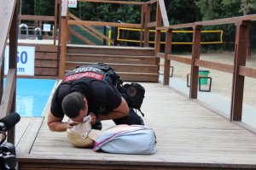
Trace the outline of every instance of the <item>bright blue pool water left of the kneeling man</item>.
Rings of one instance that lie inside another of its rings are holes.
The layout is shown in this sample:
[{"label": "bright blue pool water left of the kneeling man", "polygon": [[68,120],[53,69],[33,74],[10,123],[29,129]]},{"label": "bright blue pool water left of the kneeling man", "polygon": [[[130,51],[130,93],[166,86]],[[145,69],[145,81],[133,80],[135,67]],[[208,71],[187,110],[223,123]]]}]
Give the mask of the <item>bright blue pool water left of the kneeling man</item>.
[{"label": "bright blue pool water left of the kneeling man", "polygon": [[18,78],[16,112],[20,116],[41,116],[55,82],[52,79]]}]

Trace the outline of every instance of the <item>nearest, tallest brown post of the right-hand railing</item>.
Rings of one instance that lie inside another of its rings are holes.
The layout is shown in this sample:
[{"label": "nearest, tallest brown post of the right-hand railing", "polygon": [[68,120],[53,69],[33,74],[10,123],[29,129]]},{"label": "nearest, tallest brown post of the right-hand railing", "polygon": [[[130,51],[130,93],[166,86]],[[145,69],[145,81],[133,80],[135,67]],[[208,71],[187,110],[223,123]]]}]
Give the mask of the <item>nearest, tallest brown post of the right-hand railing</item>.
[{"label": "nearest, tallest brown post of the right-hand railing", "polygon": [[246,65],[249,24],[249,21],[236,23],[236,47],[230,121],[241,121],[244,77],[239,75],[239,67]]}]

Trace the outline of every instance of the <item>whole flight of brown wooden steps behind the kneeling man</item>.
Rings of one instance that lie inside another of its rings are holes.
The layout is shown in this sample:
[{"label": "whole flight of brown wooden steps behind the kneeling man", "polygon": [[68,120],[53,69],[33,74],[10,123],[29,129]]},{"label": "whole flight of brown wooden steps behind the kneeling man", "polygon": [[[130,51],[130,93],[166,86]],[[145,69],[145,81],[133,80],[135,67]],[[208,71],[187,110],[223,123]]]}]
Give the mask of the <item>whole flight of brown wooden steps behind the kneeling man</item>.
[{"label": "whole flight of brown wooden steps behind the kneeling man", "polygon": [[65,71],[81,65],[106,63],[124,81],[158,82],[158,64],[154,48],[67,45]]}]

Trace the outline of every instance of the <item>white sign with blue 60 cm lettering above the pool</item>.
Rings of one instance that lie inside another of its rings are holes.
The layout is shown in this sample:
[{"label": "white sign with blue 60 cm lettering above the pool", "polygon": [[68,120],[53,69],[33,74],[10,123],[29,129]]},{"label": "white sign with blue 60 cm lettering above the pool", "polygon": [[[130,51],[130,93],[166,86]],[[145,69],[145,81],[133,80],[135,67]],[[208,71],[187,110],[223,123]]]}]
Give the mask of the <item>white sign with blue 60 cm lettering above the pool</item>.
[{"label": "white sign with blue 60 cm lettering above the pool", "polygon": [[[9,68],[9,46],[5,48],[4,74],[7,75]],[[18,46],[17,51],[17,75],[34,76],[35,70],[35,47]]]}]

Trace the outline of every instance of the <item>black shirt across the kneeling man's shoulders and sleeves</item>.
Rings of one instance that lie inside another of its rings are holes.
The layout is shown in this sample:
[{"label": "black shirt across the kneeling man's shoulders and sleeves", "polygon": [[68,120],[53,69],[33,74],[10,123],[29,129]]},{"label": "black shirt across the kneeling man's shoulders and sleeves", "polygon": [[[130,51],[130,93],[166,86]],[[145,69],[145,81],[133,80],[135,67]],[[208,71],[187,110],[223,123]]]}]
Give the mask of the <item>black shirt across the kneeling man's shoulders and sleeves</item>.
[{"label": "black shirt across the kneeling man's shoulders and sleeves", "polygon": [[74,82],[61,83],[52,99],[50,111],[55,117],[63,117],[61,102],[67,94],[79,91],[88,100],[89,111],[96,115],[108,114],[121,104],[121,95],[108,82],[93,80],[88,77]]}]

